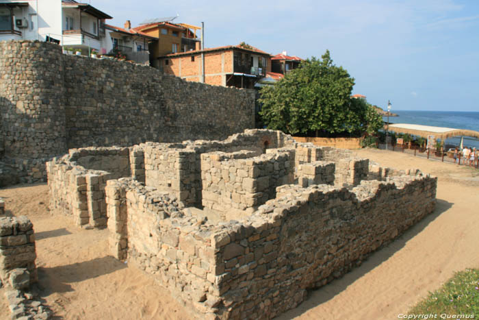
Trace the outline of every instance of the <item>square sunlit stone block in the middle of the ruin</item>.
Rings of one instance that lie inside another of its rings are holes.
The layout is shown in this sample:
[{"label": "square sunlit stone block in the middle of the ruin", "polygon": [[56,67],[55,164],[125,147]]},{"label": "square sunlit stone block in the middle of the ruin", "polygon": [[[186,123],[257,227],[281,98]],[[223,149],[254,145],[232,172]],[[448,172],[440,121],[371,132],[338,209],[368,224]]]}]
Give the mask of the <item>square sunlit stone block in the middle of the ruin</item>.
[{"label": "square sunlit stone block in the middle of the ruin", "polygon": [[268,151],[276,152],[203,153],[203,206],[219,212],[254,208],[273,199],[276,186],[294,182],[294,149]]}]

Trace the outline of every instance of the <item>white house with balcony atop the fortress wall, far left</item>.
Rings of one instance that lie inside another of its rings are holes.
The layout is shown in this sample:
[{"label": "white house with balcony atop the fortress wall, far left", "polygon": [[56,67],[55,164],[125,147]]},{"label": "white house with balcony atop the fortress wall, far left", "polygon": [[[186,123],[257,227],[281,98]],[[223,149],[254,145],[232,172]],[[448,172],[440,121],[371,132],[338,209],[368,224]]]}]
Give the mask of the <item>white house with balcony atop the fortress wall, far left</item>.
[{"label": "white house with balcony atop the fortress wall, far left", "polygon": [[0,40],[40,40],[109,51],[105,19],[112,16],[74,0],[0,0]]}]

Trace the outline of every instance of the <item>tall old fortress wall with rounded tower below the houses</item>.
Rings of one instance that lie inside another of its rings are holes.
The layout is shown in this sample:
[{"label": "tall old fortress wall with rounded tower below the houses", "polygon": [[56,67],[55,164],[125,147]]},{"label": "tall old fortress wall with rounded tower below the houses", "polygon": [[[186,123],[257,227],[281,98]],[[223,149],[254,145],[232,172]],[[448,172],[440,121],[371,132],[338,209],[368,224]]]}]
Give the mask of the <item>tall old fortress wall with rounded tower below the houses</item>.
[{"label": "tall old fortress wall with rounded tower below the houses", "polygon": [[224,139],[254,127],[255,94],[185,82],[148,66],[0,42],[1,160],[44,180],[70,148]]}]

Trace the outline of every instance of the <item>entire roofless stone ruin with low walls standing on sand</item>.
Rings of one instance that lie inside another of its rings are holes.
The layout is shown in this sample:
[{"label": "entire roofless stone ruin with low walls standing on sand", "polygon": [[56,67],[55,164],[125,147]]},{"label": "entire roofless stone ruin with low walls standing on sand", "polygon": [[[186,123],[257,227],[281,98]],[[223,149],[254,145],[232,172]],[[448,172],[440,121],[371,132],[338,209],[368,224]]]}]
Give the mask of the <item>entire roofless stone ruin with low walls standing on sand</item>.
[{"label": "entire roofless stone ruin with low walls standing on sand", "polygon": [[280,315],[435,208],[435,177],[271,130],[97,152],[48,164],[52,209],[106,221],[111,254],[203,319]]}]

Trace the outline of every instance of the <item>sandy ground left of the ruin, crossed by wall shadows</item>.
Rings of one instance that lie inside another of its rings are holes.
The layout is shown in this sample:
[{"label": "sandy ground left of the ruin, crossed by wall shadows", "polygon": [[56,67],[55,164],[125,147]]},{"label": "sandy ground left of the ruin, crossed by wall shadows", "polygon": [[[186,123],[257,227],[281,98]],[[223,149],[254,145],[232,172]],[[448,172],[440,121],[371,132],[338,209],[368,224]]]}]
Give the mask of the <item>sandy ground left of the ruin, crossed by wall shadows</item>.
[{"label": "sandy ground left of the ruin, crossed by wall shadows", "polygon": [[[0,190],[0,197],[9,212],[25,214],[34,223],[39,285],[55,316],[82,320],[192,318],[152,278],[108,255],[107,230],[80,230],[69,217],[52,217],[47,208],[47,185],[6,188]],[[3,292],[0,319],[10,319]]]}]

